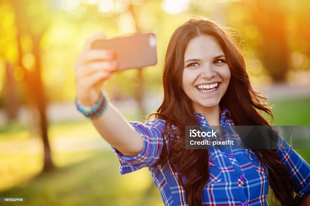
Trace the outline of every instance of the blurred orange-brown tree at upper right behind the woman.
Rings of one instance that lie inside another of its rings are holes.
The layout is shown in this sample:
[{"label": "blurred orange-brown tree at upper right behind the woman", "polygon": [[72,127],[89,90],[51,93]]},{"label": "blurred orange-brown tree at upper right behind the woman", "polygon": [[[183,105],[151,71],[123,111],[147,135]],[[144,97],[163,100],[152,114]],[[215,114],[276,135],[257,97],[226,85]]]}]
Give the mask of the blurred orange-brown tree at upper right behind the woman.
[{"label": "blurred orange-brown tree at upper right behind the woman", "polygon": [[255,26],[262,35],[260,57],[275,82],[283,82],[289,69],[290,48],[287,39],[285,2],[247,0]]}]

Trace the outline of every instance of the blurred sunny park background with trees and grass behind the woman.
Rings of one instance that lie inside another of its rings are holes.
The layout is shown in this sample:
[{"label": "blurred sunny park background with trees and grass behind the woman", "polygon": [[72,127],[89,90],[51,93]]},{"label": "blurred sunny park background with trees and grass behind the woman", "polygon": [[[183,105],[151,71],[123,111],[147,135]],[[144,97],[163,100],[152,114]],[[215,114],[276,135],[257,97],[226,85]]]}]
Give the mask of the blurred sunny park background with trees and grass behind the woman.
[{"label": "blurred sunny park background with trees and grass behind the woman", "polygon": [[[157,36],[156,66],[105,85],[128,120],[160,105],[170,36],[202,15],[235,28],[273,124],[309,125],[309,8],[308,0],[0,0],[0,197],[26,199],[1,205],[163,205],[148,169],[121,176],[110,146],[73,104],[72,65],[95,32]],[[309,150],[297,152],[310,162]]]}]

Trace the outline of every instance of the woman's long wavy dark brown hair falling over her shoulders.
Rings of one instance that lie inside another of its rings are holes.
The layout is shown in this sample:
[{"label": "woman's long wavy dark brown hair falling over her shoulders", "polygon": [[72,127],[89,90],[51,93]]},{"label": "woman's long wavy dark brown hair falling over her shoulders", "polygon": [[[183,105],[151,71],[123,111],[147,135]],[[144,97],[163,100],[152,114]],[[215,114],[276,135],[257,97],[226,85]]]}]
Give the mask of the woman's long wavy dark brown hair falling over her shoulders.
[{"label": "woman's long wavy dark brown hair falling over her shoulders", "polygon": [[[181,88],[186,46],[191,39],[201,35],[216,37],[224,50],[231,79],[219,104],[221,108],[229,109],[234,124],[269,125],[258,111],[266,112],[273,119],[271,108],[264,103],[266,97],[251,87],[240,49],[223,27],[209,19],[199,17],[189,19],[175,30],[168,44],[163,70],[164,99],[157,113],[150,114],[148,119],[155,115],[155,118],[166,120],[163,135],[168,135],[170,148],[168,152],[166,144],[164,145],[161,158],[167,159],[172,170],[178,172],[179,182],[184,188],[190,206],[202,205],[201,193],[209,179],[208,150],[185,149],[185,126],[198,125],[198,121],[197,118],[193,118],[195,115],[192,101]],[[234,101],[231,101],[232,99]],[[178,129],[173,129],[172,125]],[[280,161],[276,150],[264,149],[253,152],[261,164],[268,168],[270,187],[281,205],[297,205],[294,202],[289,171]],[[187,179],[186,182],[183,182],[182,176]]]}]

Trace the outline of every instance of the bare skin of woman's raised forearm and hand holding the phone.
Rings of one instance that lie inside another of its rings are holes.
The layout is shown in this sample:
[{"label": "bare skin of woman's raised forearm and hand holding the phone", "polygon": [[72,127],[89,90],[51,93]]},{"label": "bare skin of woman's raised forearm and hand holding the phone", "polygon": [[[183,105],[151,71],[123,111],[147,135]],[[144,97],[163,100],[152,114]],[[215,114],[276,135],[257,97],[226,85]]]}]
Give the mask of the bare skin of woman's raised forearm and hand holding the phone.
[{"label": "bare skin of woman's raised forearm and hand holding the phone", "polygon": [[[73,65],[76,96],[84,106],[94,105],[99,101],[104,82],[112,78],[118,67],[113,51],[91,48],[93,42],[105,38],[100,33],[89,37]],[[123,155],[134,156],[142,150],[141,135],[111,103],[108,103],[102,115],[92,119],[92,123],[100,135]]]}]

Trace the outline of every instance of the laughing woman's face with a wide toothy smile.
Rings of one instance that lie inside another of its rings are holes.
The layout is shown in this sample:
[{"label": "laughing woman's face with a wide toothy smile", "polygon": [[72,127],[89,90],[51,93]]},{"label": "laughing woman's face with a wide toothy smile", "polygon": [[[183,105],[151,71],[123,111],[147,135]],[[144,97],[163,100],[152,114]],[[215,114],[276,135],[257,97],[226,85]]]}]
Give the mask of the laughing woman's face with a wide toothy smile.
[{"label": "laughing woman's face with a wide toothy smile", "polygon": [[214,36],[198,36],[189,41],[184,54],[182,88],[193,101],[195,112],[219,105],[229,80],[224,51]]}]

